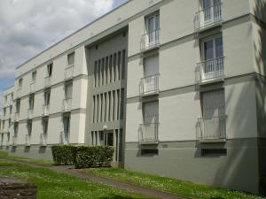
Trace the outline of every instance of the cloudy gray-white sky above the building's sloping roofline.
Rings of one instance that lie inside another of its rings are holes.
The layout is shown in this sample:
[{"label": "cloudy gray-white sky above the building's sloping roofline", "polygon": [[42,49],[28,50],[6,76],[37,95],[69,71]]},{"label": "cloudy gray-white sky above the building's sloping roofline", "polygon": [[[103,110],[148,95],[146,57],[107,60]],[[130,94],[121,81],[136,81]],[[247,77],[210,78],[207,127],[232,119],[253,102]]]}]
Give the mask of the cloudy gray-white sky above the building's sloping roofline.
[{"label": "cloudy gray-white sky above the building's sloping roofline", "polygon": [[15,68],[127,0],[1,0],[0,109]]}]

